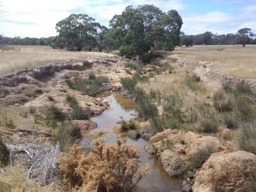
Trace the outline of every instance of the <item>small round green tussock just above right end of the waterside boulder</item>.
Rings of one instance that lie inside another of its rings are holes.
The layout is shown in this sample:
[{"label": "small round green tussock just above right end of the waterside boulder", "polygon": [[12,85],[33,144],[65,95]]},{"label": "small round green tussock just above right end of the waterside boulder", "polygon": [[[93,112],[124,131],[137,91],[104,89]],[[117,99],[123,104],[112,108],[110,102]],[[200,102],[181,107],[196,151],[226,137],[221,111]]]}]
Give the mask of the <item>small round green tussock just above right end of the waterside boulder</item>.
[{"label": "small round green tussock just above right end of the waterside boulder", "polygon": [[218,125],[216,118],[205,118],[200,122],[199,132],[217,132]]}]

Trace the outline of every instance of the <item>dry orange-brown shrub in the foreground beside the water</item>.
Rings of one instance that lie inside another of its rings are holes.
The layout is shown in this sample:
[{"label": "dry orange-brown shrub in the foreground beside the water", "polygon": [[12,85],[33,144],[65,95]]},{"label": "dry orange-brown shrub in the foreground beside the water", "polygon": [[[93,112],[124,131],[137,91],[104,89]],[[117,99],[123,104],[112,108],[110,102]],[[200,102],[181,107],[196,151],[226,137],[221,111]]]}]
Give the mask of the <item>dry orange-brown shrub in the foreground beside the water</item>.
[{"label": "dry orange-brown shrub in the foreground beside the water", "polygon": [[132,191],[149,171],[148,165],[139,168],[138,158],[137,149],[125,141],[107,144],[99,139],[88,154],[72,146],[61,157],[60,168],[67,183],[78,191]]}]

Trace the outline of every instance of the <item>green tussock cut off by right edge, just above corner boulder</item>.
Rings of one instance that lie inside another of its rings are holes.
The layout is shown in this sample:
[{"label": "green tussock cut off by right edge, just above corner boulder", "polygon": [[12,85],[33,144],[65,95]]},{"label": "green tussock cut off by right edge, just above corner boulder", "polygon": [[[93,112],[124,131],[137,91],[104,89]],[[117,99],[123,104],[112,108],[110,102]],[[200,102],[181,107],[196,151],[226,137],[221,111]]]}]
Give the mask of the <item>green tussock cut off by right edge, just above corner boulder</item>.
[{"label": "green tussock cut off by right edge, just above corner boulder", "polygon": [[241,129],[238,142],[240,149],[256,154],[256,125]]}]

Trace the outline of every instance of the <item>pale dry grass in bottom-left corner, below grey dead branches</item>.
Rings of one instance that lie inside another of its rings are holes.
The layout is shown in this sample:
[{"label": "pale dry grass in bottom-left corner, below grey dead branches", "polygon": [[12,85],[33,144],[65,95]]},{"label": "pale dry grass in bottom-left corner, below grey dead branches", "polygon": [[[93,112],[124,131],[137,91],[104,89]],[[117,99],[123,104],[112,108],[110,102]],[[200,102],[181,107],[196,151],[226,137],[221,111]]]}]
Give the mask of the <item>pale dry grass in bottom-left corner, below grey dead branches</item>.
[{"label": "pale dry grass in bottom-left corner, below grey dead branches", "polygon": [[26,179],[26,170],[22,167],[13,167],[12,170],[6,170],[0,173],[0,191],[1,192],[61,192],[61,185],[51,183],[47,186],[40,186],[33,180]]}]

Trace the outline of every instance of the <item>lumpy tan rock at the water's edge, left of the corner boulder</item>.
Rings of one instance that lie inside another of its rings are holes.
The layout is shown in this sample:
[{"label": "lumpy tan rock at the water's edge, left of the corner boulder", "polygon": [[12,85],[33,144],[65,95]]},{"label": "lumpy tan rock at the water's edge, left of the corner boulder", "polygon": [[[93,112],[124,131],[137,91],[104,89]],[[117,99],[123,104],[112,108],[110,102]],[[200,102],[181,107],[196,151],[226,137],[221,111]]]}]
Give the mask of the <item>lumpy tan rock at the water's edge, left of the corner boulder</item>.
[{"label": "lumpy tan rock at the water's edge, left of the corner boulder", "polygon": [[227,149],[216,137],[179,129],[166,129],[155,134],[150,138],[149,145],[146,151],[160,156],[164,170],[171,177],[185,173],[188,168],[185,166],[185,162],[202,147],[213,145],[216,147],[216,151]]}]

